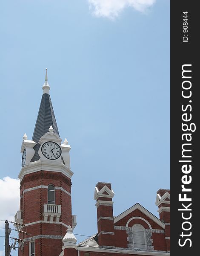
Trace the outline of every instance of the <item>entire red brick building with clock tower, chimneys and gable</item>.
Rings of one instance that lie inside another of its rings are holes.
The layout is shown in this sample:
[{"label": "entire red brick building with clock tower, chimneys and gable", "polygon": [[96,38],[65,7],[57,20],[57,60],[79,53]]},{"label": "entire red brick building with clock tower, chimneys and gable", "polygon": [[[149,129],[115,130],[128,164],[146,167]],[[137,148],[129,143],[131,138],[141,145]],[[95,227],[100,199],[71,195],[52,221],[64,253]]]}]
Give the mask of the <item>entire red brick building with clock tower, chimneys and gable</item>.
[{"label": "entire red brick building with clock tower, chimneys and gable", "polygon": [[160,219],[138,203],[114,217],[111,183],[98,182],[94,190],[97,234],[77,244],[76,216],[71,212],[71,147],[66,139],[61,143],[49,90],[46,71],[34,134],[32,140],[24,134],[21,146],[15,226],[27,233],[19,235],[19,256],[169,255],[168,189],[157,191]]}]

